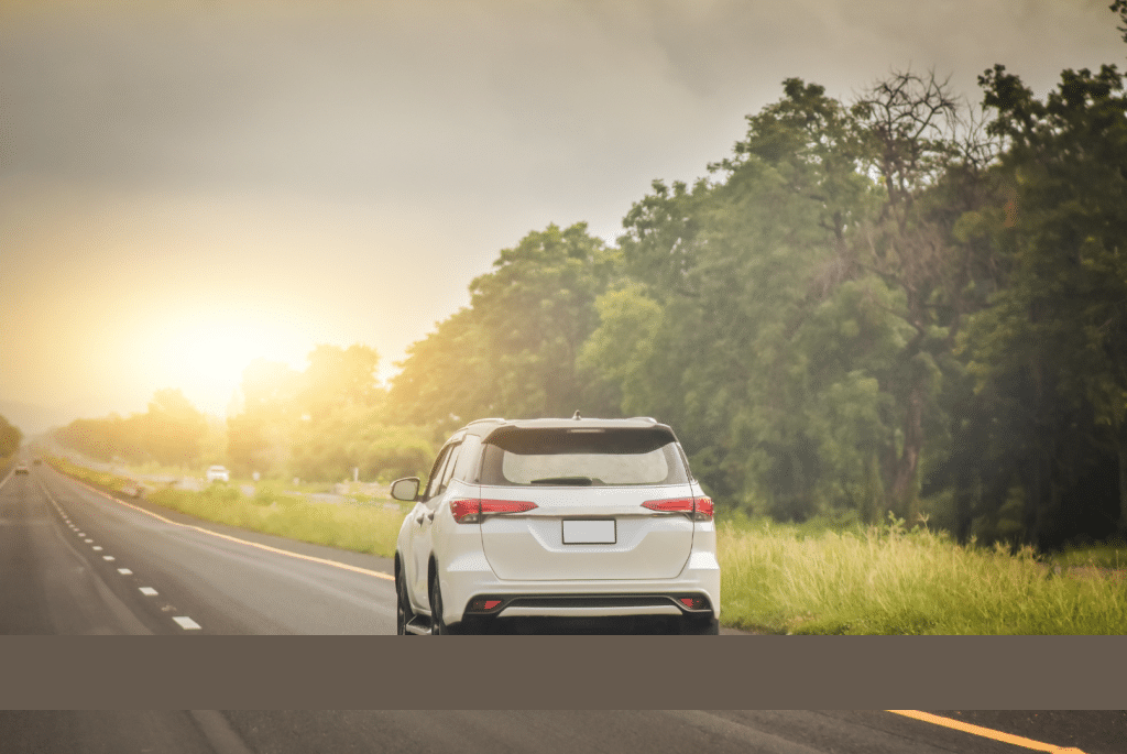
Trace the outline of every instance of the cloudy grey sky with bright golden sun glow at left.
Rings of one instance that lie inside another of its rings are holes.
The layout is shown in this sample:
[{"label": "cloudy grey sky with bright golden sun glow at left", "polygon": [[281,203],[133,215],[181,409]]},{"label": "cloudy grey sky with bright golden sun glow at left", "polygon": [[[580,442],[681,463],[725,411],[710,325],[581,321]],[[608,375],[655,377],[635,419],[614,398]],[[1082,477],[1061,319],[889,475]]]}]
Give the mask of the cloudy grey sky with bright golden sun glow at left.
[{"label": "cloudy grey sky with bright golden sun glow at left", "polygon": [[1110,0],[0,0],[0,415],[25,434],[255,357],[389,379],[502,249],[613,243],[783,79],[1124,69]]}]

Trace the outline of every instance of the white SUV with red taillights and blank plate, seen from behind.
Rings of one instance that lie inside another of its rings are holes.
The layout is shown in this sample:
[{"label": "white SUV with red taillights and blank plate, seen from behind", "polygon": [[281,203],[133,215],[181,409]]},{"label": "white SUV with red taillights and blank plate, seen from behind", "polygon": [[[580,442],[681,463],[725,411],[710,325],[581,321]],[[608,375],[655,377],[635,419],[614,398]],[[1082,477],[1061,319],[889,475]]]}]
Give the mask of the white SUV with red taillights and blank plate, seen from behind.
[{"label": "white SUV with red taillights and blank plate, seen from behind", "polygon": [[664,424],[480,419],[419,487],[391,486],[415,503],[396,544],[399,633],[511,619],[718,632],[712,502]]}]

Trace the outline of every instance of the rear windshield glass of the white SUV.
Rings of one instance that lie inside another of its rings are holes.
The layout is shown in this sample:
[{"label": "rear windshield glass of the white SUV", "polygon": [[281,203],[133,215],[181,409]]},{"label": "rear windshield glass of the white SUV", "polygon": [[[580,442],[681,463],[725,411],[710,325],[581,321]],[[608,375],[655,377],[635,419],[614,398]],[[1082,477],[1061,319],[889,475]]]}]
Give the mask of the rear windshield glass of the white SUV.
[{"label": "rear windshield glass of the white SUV", "polygon": [[674,485],[689,481],[663,429],[509,429],[490,435],[483,485]]}]

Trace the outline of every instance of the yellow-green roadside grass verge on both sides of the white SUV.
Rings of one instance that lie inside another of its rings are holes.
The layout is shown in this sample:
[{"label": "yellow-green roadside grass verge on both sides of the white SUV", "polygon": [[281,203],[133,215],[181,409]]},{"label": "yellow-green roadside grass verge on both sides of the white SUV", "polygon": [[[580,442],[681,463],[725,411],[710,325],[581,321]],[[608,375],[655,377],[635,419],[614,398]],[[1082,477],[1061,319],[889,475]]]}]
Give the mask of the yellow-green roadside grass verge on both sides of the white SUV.
[{"label": "yellow-green roadside grass verge on both sides of the white SUV", "polygon": [[[124,480],[60,461],[110,489]],[[353,500],[309,503],[281,486],[166,489],[149,499],[192,516],[317,544],[391,557],[405,511]],[[960,547],[902,521],[801,526],[721,514],[721,621],[772,633],[1119,635],[1127,630],[1122,551],[1053,556]],[[1110,565],[1109,565],[1110,564]],[[1095,566],[1095,567],[1090,567]]]}]

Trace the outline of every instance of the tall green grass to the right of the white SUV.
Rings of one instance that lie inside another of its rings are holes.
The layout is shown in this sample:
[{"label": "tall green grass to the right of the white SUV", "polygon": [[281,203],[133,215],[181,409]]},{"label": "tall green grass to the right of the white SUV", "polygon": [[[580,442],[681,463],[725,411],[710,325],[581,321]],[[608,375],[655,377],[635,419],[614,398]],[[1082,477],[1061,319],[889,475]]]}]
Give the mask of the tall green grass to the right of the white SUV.
[{"label": "tall green grass to the right of the white SUV", "polygon": [[1031,549],[959,547],[903,522],[718,532],[725,623],[775,633],[1118,635],[1121,573],[1077,575]]}]

